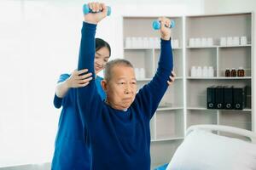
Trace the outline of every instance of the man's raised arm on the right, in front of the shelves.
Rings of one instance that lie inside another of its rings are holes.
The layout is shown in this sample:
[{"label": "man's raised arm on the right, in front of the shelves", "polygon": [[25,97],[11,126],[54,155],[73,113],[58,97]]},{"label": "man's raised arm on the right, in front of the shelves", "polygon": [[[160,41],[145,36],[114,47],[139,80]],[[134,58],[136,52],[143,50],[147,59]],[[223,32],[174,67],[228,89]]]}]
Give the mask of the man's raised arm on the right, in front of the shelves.
[{"label": "man's raised arm on the right, in front of the shelves", "polygon": [[160,100],[168,88],[167,81],[173,69],[172,46],[171,46],[171,20],[160,18],[160,60],[153,80],[145,85],[137,94],[139,104],[144,114],[150,119],[156,111]]}]

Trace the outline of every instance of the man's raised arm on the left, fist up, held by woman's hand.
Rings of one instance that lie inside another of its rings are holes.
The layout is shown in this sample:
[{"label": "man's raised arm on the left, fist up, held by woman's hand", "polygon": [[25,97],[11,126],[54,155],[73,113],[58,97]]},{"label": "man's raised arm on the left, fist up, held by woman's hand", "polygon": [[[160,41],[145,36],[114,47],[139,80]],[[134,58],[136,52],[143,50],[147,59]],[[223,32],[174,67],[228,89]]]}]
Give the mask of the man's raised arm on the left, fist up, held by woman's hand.
[{"label": "man's raised arm on the left, fist up, held by woman's hand", "polygon": [[[88,69],[92,73],[92,77],[96,77],[94,69],[95,59],[95,35],[96,26],[103,18],[107,16],[108,9],[103,3],[88,3],[93,11],[100,13],[84,14],[84,22],[82,28],[82,37],[79,49],[79,65],[78,70]],[[84,88],[78,88],[79,113],[82,117],[83,124],[90,121],[92,113],[91,108],[97,103],[101,103],[102,99],[97,94],[95,78],[90,81],[89,85]]]}]

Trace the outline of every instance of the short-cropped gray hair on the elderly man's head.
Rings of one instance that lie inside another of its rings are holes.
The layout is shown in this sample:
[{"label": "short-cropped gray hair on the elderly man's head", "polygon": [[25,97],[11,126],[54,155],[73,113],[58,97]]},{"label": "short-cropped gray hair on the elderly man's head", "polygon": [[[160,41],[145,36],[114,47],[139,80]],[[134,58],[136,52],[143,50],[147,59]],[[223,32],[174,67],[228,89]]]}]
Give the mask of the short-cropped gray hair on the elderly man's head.
[{"label": "short-cropped gray hair on the elderly man's head", "polygon": [[126,59],[113,59],[109,61],[105,66],[105,71],[104,71],[104,79],[107,80],[107,82],[109,82],[111,79],[111,75],[112,75],[111,71],[113,69],[113,66],[115,65],[122,65],[122,66],[133,68],[133,65],[131,65],[131,62]]}]

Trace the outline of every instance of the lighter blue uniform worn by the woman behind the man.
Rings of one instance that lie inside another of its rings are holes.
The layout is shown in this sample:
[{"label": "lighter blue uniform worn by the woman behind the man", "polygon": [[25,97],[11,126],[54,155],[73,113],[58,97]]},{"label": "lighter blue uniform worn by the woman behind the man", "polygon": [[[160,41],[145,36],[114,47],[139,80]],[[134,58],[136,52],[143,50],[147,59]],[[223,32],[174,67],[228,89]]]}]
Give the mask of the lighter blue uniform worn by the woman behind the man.
[{"label": "lighter blue uniform worn by the woman behind the man", "polygon": [[[64,82],[70,77],[69,74],[61,74],[58,82]],[[96,77],[97,93],[101,99],[106,99],[101,86],[102,77]],[[79,107],[77,102],[77,91],[75,88],[69,88],[63,98],[55,94],[54,105],[61,108],[58,133],[55,138],[55,152],[52,160],[52,170],[90,170],[90,150],[87,147],[84,138],[84,128],[79,116]],[[84,101],[87,96],[84,96]]]}]

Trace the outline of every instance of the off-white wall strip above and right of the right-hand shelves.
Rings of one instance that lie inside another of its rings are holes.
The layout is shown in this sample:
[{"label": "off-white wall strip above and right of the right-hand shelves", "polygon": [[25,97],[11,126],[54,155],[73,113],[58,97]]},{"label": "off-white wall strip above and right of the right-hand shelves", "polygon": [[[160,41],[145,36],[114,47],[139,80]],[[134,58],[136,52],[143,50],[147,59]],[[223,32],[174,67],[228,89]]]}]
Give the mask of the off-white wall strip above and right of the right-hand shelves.
[{"label": "off-white wall strip above and right of the right-hand shelves", "polygon": [[[242,12],[253,12],[254,15],[256,13],[256,1],[255,0],[205,0],[205,14],[219,14],[219,13],[242,13]],[[256,22],[255,19],[253,20],[253,31],[255,31]],[[256,49],[256,34],[253,32],[253,77],[255,79],[256,76],[256,59],[254,58],[255,49]],[[255,88],[255,80],[253,81],[253,87]],[[256,90],[252,92],[253,94],[253,104],[252,106],[256,105]],[[256,116],[255,116],[255,107],[253,107],[253,131],[256,132]]]}]

